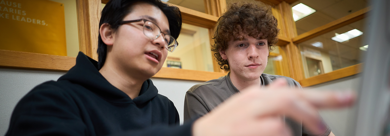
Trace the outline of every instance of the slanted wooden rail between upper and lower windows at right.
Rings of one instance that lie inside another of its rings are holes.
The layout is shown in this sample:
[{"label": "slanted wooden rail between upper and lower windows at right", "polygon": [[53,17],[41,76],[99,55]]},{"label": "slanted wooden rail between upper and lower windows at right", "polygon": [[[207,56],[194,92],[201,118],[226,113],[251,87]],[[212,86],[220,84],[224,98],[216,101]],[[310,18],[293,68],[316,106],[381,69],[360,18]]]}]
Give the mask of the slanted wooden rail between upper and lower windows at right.
[{"label": "slanted wooden rail between upper and lower windows at right", "polygon": [[371,10],[370,8],[371,7],[366,7],[362,10],[356,11],[352,14],[349,14],[345,17],[342,17],[340,19],[332,21],[328,24],[325,24],[325,25],[320,26],[318,28],[315,28],[313,30],[302,33],[302,34],[294,37],[293,42],[295,44],[299,44],[301,42],[305,42],[307,40],[310,40],[314,37],[317,37],[317,36],[323,35],[325,33],[328,33],[330,31],[336,30],[337,28],[341,28],[343,26],[346,26],[347,24],[351,24],[351,23],[354,23],[356,21],[359,21],[367,16],[368,12]]}]

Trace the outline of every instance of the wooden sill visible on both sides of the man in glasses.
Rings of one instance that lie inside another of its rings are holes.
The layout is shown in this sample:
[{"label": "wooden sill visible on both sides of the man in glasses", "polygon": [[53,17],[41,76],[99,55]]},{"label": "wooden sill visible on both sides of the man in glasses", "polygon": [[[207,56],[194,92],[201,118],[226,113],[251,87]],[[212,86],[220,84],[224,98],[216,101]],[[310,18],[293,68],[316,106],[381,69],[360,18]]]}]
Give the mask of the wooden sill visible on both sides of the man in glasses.
[{"label": "wooden sill visible on both sides of the man in glasses", "polygon": [[[31,52],[0,50],[0,67],[35,70],[68,71],[76,64],[75,57],[39,54]],[[161,68],[153,77],[208,81],[222,77],[227,73],[175,68]]]}]

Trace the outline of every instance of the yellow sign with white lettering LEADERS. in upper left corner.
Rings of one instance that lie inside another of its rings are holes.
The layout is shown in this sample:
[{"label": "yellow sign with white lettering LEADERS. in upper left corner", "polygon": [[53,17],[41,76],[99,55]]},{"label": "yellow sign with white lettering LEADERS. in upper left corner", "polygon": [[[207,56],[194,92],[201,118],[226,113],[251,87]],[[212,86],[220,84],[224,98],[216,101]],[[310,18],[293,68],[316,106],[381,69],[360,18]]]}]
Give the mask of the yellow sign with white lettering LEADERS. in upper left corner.
[{"label": "yellow sign with white lettering LEADERS. in upper left corner", "polygon": [[0,49],[66,56],[64,4],[0,0]]}]

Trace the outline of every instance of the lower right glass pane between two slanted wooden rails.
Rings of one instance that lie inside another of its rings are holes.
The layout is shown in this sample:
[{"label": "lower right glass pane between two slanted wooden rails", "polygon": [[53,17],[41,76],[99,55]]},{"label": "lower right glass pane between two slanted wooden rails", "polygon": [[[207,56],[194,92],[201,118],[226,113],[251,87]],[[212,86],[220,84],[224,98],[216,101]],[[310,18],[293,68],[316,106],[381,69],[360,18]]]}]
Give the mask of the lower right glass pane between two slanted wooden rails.
[{"label": "lower right glass pane between two slanted wooden rails", "polygon": [[362,19],[299,44],[306,78],[362,63],[366,32]]}]

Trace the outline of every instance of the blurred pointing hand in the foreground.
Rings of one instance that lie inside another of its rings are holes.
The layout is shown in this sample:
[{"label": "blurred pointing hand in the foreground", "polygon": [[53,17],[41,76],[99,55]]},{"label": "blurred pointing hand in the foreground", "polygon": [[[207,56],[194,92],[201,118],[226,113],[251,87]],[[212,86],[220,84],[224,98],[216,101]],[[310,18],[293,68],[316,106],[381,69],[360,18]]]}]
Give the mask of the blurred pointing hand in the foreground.
[{"label": "blurred pointing hand in the foreground", "polygon": [[193,136],[290,136],[282,116],[291,117],[316,134],[326,131],[317,110],[353,105],[353,92],[302,91],[285,79],[263,89],[250,87],[232,96],[193,124]]}]

